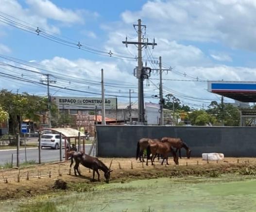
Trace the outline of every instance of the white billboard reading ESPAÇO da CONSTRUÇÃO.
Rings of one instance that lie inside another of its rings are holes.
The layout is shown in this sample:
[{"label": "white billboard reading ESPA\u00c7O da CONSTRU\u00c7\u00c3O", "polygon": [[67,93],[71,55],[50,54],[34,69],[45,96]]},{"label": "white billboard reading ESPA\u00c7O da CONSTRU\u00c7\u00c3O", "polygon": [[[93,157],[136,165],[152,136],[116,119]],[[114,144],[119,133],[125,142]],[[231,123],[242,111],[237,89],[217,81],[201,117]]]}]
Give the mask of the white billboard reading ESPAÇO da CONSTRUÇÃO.
[{"label": "white billboard reading ESPA\u00c7O da CONSTRU\u00c7\u00c3O", "polygon": [[[58,109],[94,110],[102,108],[102,98],[95,97],[52,97]],[[105,109],[117,109],[117,98],[105,98]]]}]

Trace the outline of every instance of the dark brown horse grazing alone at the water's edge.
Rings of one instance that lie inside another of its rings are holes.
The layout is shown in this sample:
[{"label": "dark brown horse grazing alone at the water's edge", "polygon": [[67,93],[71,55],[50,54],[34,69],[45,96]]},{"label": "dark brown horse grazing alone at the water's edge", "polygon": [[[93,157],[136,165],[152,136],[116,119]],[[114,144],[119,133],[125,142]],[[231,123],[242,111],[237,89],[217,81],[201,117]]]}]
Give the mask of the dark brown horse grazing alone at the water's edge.
[{"label": "dark brown horse grazing alone at the water's edge", "polygon": [[[94,180],[95,172],[97,172],[97,174],[98,174],[98,181],[100,181],[100,173],[99,173],[99,169],[100,169],[100,170],[102,170],[104,172],[104,177],[106,179],[106,182],[107,183],[109,182],[110,172],[113,171],[113,170],[110,170],[111,164],[110,164],[110,166],[108,168],[98,158],[91,157],[91,156],[86,155],[86,154],[84,154],[82,152],[74,152],[71,155],[70,169],[71,169],[71,166],[73,164],[73,158],[75,160],[75,165],[74,165],[75,176],[77,176],[76,171],[81,176],[81,174],[80,174],[80,172],[78,170],[79,163],[81,163],[83,166],[93,170],[93,172],[92,172],[93,180]],[[69,171],[70,171],[70,169],[69,169]]]}]

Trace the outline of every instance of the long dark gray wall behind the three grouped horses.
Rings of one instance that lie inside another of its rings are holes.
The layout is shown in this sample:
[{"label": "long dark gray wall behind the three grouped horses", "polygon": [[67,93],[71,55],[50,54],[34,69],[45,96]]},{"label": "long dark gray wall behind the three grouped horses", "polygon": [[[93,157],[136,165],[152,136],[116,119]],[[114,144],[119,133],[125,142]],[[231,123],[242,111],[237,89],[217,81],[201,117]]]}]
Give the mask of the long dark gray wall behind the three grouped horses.
[{"label": "long dark gray wall behind the three grouped horses", "polygon": [[[219,152],[224,156],[255,157],[254,127],[161,127],[97,126],[99,157],[135,157],[142,137],[180,137],[192,150],[191,156]],[[186,151],[183,149],[182,154]]]}]

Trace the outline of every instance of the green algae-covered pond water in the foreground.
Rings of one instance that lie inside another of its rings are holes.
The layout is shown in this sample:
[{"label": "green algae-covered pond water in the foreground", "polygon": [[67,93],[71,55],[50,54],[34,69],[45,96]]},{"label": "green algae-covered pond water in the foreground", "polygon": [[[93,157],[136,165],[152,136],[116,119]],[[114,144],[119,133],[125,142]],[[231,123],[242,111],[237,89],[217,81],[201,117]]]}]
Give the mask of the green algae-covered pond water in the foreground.
[{"label": "green algae-covered pond water in the foreground", "polygon": [[109,183],[89,192],[16,205],[13,211],[30,212],[38,207],[42,212],[255,212],[256,179],[231,181],[229,178],[161,178]]}]

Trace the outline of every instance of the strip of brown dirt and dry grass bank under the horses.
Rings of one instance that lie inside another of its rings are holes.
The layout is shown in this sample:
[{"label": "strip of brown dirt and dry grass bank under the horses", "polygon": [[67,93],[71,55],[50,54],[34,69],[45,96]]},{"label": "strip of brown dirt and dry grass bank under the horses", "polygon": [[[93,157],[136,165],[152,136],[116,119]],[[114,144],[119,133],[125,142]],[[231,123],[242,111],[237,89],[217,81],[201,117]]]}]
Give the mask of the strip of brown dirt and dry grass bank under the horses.
[{"label": "strip of brown dirt and dry grass bank under the horses", "polygon": [[[187,175],[209,176],[212,172],[236,173],[246,167],[256,169],[256,158],[225,158],[223,161],[203,161],[202,158],[179,159],[179,165],[174,165],[172,158],[170,165],[155,162],[152,166],[139,163],[135,158],[100,158],[107,166],[112,161],[110,182],[127,182],[134,179],[151,179],[159,177],[182,177]],[[34,165],[31,167],[1,170],[0,200],[31,197],[52,194],[59,190],[52,188],[56,179],[67,182],[68,191],[85,191],[88,187],[104,182],[103,172],[100,172],[101,182],[92,182],[92,171],[80,165],[82,177],[75,177],[73,166],[69,175],[70,161]],[[50,173],[51,172],[51,173]],[[18,173],[20,182],[17,182]],[[50,176],[51,175],[51,176]],[[29,176],[29,180],[27,179]],[[97,174],[96,174],[97,177]],[[7,179],[8,183],[5,183]],[[67,191],[65,191],[67,192]]]}]

